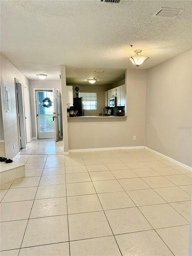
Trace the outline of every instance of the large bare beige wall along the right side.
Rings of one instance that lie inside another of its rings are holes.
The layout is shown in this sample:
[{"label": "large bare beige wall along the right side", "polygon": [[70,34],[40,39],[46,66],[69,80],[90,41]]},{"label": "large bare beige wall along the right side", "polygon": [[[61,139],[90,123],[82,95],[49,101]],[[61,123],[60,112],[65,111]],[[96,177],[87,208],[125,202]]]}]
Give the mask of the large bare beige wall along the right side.
[{"label": "large bare beige wall along the right side", "polygon": [[149,68],[146,86],[145,146],[188,166],[192,166],[191,60],[190,50]]}]

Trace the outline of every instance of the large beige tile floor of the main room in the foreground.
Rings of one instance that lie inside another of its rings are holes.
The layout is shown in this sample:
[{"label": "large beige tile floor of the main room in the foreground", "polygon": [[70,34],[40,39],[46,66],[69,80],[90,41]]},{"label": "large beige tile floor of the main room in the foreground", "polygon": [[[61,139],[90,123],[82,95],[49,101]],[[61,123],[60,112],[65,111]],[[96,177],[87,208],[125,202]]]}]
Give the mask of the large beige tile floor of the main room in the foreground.
[{"label": "large beige tile floor of the main room in the foreground", "polygon": [[190,171],[145,149],[44,155],[48,143],[1,186],[1,256],[187,255]]}]

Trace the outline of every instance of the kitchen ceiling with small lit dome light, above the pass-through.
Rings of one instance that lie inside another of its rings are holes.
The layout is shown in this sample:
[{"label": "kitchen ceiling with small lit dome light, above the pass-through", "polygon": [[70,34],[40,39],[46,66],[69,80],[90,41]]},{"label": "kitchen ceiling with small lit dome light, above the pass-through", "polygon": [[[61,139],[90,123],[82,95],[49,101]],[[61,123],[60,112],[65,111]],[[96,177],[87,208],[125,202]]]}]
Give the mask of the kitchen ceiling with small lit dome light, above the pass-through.
[{"label": "kitchen ceiling with small lit dome light, above the pass-through", "polygon": [[67,84],[87,84],[87,79],[96,78],[95,85],[105,85],[117,83],[125,79],[125,69],[105,68],[99,69],[104,72],[94,73],[97,68],[71,68],[66,67],[66,83]]}]

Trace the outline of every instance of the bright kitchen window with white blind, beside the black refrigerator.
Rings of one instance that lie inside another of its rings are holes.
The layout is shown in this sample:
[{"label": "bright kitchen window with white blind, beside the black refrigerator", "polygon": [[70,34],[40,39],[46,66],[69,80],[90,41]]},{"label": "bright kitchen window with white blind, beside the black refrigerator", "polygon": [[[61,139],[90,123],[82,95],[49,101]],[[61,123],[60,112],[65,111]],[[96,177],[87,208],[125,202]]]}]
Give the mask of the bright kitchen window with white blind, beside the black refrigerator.
[{"label": "bright kitchen window with white blind, beside the black refrigerator", "polygon": [[83,99],[84,110],[97,110],[97,92],[79,92]]}]

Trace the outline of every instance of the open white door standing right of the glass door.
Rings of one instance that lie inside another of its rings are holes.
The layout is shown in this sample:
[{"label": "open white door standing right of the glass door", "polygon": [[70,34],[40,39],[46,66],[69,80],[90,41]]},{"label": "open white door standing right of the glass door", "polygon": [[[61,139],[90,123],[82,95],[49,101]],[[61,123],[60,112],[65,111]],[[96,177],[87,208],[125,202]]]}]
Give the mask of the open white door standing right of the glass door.
[{"label": "open white door standing right of the glass door", "polygon": [[59,89],[53,88],[53,121],[55,131],[55,141],[60,138],[60,100]]}]

